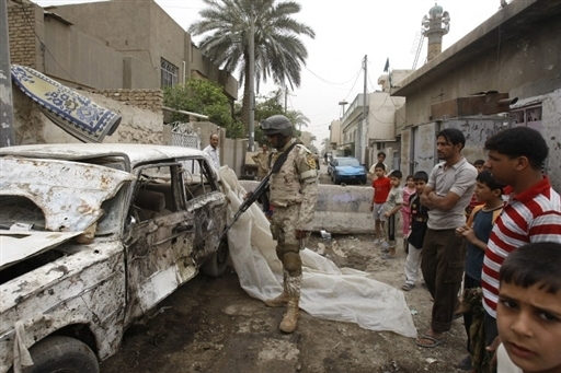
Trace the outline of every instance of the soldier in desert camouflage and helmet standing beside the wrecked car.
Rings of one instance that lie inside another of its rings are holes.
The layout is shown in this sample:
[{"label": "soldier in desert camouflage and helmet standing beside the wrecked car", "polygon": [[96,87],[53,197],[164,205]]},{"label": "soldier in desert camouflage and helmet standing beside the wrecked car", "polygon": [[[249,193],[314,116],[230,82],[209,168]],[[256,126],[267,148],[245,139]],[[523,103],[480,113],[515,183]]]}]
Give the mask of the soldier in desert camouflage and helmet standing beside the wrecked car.
[{"label": "soldier in desert camouflage and helmet standing beside the wrecked car", "polygon": [[270,180],[270,201],[274,207],[271,233],[277,242],[276,255],[283,263],[283,293],[266,300],[265,304],[270,307],[287,305],[279,329],[293,333],[298,320],[302,284],[300,248],[308,235],[304,226],[313,218],[318,171],[310,151],[293,138],[293,125],[287,117],[274,115],[262,120],[260,127],[277,150],[273,153],[271,167],[280,154],[288,152],[280,170],[272,174]]}]

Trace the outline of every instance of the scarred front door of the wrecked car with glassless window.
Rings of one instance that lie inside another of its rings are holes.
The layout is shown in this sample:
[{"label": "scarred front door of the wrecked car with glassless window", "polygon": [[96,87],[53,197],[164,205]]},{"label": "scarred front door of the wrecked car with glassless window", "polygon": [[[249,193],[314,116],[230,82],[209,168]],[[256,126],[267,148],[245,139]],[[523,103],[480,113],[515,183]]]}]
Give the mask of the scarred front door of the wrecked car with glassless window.
[{"label": "scarred front door of the wrecked car with glassless window", "polygon": [[182,165],[147,165],[137,174],[125,240],[126,325],[196,275],[195,215],[186,209]]}]

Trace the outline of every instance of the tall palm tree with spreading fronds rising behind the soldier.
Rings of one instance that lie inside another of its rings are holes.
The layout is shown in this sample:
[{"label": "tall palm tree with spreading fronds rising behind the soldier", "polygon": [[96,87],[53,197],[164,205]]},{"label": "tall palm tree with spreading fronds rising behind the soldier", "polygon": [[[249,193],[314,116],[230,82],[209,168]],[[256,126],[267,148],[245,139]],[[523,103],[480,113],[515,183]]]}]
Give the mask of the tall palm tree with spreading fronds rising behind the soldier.
[{"label": "tall palm tree with spreading fronds rising behind the soldier", "polygon": [[239,69],[239,81],[243,81],[241,119],[248,126],[250,109],[249,84],[249,36],[254,24],[255,82],[259,92],[261,81],[273,81],[291,89],[300,86],[301,65],[308,50],[300,35],[316,37],[307,25],[291,18],[301,9],[295,1],[276,0],[203,0],[208,5],[201,11],[202,20],[188,32],[207,34],[201,42],[201,50],[216,65],[229,72]]}]

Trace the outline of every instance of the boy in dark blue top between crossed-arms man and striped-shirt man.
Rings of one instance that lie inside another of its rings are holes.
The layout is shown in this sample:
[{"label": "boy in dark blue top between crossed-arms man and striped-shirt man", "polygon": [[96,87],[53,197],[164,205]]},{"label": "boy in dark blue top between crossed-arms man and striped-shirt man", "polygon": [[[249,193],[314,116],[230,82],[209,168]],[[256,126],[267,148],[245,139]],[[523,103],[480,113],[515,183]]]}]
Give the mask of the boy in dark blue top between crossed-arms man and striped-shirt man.
[{"label": "boy in dark blue top between crossed-arms man and striped-shirt man", "polygon": [[[481,270],[483,268],[483,257],[485,256],[486,242],[491,235],[493,224],[503,210],[503,187],[504,185],[497,183],[491,172],[484,170],[478,174],[476,178],[476,191],[478,206],[471,211],[471,215],[468,219],[466,226],[458,228],[457,234],[466,238],[467,242],[467,255],[466,266],[463,276],[463,291],[466,294],[465,299],[471,302],[481,303],[481,298],[474,298],[473,292],[476,289],[481,288]],[[472,346],[470,338],[470,327],[473,319],[473,313],[466,311],[463,307],[463,326],[468,335],[468,351],[470,355],[466,357],[460,361],[458,368],[469,370],[471,366],[480,366],[483,362],[478,358],[482,355],[484,351],[474,351],[476,346]],[[472,335],[474,337],[474,335]],[[481,347],[480,347],[481,348]],[[472,363],[473,361],[473,363]]]}]

